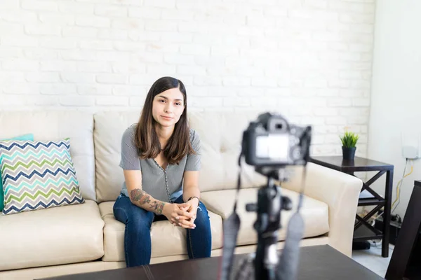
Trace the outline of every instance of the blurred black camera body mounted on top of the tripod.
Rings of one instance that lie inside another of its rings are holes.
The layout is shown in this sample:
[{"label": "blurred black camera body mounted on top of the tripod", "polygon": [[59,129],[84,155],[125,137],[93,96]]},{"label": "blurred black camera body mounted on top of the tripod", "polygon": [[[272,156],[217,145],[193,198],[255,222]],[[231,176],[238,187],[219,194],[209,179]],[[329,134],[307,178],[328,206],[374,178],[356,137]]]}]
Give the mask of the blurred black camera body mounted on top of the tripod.
[{"label": "blurred black camera body mounted on top of the tripod", "polygon": [[248,165],[286,167],[309,160],[312,128],[291,125],[286,118],[263,113],[243,132],[242,150]]}]

